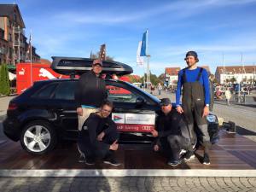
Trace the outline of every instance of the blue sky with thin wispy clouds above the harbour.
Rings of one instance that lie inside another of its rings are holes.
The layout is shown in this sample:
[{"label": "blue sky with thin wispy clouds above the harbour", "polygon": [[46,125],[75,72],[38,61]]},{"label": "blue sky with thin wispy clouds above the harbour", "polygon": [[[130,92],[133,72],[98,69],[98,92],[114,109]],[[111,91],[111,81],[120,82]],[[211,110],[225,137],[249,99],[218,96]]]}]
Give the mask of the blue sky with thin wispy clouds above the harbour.
[{"label": "blue sky with thin wispy clouds above the harbour", "polygon": [[256,0],[0,0],[17,3],[32,31],[38,55],[89,57],[101,44],[114,60],[137,67],[136,53],[148,29],[149,65],[160,75],[165,67],[185,67],[188,50],[199,65],[256,64]]}]

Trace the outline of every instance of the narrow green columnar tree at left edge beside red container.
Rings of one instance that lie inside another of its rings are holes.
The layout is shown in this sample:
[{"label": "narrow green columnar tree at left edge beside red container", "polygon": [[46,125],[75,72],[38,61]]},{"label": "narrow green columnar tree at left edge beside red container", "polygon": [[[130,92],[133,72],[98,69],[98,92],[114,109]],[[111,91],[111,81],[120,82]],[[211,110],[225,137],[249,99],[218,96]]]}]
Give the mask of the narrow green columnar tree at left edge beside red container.
[{"label": "narrow green columnar tree at left edge beside red container", "polygon": [[9,86],[9,73],[6,64],[2,64],[0,68],[0,94],[3,96],[9,96],[10,86]]}]

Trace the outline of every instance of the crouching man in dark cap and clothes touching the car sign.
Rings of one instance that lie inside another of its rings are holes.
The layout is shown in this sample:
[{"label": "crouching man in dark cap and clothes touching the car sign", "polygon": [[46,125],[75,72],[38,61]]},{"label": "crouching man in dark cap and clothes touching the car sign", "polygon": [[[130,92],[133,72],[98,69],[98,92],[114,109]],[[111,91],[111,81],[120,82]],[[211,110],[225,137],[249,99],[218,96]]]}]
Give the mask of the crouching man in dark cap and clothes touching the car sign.
[{"label": "crouching man in dark cap and clothes touching the car sign", "polygon": [[187,151],[184,160],[195,158],[183,114],[172,110],[172,103],[168,98],[161,99],[160,107],[161,113],[156,119],[156,130],[151,131],[153,137],[156,137],[154,151],[165,154],[170,166],[177,166],[182,162],[182,149]]}]

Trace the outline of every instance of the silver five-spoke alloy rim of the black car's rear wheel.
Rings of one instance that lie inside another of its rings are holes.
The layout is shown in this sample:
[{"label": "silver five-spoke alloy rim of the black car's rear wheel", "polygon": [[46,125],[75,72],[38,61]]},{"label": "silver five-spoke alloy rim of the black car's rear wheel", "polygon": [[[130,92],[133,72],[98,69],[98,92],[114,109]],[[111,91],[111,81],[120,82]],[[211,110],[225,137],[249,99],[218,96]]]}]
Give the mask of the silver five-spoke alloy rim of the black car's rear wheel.
[{"label": "silver five-spoke alloy rim of the black car's rear wheel", "polygon": [[32,152],[42,152],[49,147],[49,130],[42,125],[33,125],[26,130],[23,141]]}]

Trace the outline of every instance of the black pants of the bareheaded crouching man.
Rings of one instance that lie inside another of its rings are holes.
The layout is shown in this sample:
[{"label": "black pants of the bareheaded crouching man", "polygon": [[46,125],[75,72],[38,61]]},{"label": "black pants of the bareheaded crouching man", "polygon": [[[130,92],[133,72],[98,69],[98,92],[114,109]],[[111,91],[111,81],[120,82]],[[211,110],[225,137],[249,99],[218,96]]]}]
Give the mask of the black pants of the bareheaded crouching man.
[{"label": "black pants of the bareheaded crouching man", "polygon": [[[114,141],[119,139],[119,133],[117,131],[112,131],[106,134],[102,143],[112,144]],[[86,158],[96,159],[96,158],[106,158],[110,155],[113,155],[113,151],[104,148],[94,148],[90,143],[90,138],[85,137],[82,141],[78,142],[79,151],[82,152]]]}]

